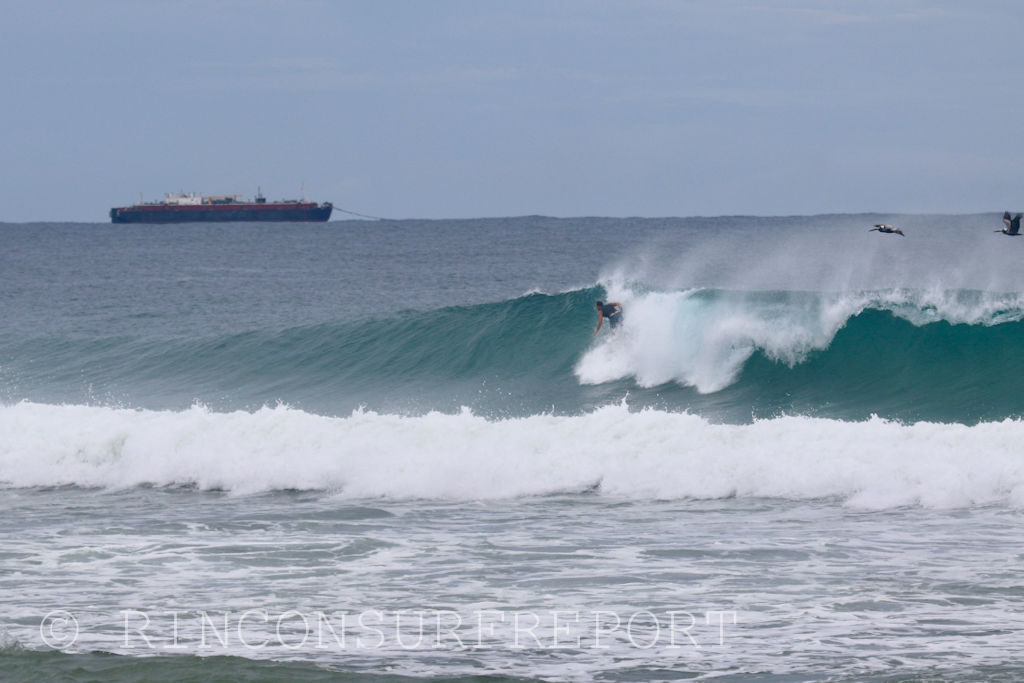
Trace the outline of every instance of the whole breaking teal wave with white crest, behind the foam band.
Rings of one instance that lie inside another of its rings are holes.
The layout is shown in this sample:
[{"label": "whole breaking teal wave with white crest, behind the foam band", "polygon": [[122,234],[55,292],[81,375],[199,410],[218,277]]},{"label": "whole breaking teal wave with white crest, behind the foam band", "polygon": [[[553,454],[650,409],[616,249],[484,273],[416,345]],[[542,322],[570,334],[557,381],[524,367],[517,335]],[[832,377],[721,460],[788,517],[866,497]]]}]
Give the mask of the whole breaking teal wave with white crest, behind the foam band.
[{"label": "whole breaking teal wave with white crest, behind the foam band", "polygon": [[[624,304],[592,337],[593,301]],[[581,415],[627,398],[714,421],[974,424],[1024,415],[1024,298],[607,287],[190,339],[0,337],[8,402],[347,415]]]}]

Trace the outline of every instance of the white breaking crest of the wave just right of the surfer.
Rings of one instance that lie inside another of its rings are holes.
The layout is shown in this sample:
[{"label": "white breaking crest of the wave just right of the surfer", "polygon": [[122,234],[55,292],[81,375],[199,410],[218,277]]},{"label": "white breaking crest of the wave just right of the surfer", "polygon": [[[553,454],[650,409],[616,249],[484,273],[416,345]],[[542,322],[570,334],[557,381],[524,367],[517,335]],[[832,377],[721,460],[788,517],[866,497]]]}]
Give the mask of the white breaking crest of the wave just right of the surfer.
[{"label": "white breaking crest of the wave just right of the surfer", "polygon": [[667,382],[701,393],[736,381],[756,351],[791,367],[828,347],[849,319],[866,308],[890,310],[923,326],[997,325],[1024,318],[1024,295],[975,291],[884,292],[640,292],[606,285],[625,319],[588,351],[575,373],[584,384],[634,378],[643,387]]}]

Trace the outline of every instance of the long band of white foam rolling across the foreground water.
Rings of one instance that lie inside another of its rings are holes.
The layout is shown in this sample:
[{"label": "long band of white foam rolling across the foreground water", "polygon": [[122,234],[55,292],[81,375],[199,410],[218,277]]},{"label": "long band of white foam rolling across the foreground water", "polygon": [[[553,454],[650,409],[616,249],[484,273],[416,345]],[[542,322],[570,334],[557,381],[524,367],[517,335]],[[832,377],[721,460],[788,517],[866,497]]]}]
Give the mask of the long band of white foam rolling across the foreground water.
[{"label": "long band of white foam rolling across the foreground water", "polygon": [[15,487],[194,484],[239,494],[478,500],[596,488],[641,499],[838,497],[869,508],[1024,504],[1024,423],[714,425],[606,407],[577,417],[0,408]]}]

